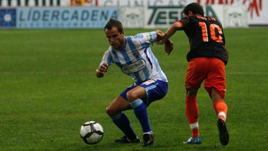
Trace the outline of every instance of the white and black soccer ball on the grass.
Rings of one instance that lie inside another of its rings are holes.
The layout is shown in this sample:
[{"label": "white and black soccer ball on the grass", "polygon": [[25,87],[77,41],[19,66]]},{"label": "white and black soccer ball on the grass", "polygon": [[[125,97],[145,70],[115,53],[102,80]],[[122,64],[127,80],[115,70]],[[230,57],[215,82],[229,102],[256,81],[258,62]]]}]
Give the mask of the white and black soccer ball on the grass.
[{"label": "white and black soccer ball on the grass", "polygon": [[81,126],[80,136],[86,144],[96,144],[103,137],[103,128],[98,122],[88,121]]}]

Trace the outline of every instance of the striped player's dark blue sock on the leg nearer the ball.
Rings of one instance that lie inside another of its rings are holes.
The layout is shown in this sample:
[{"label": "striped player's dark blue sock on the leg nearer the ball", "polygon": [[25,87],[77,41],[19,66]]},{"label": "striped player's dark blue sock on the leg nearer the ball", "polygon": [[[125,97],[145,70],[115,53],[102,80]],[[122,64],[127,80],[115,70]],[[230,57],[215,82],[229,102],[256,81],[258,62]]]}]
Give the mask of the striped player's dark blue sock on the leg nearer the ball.
[{"label": "striped player's dark blue sock on the leg nearer the ball", "polygon": [[132,127],[130,126],[128,117],[125,115],[124,112],[121,112],[117,114],[116,116],[111,117],[111,119],[113,120],[115,125],[121,131],[123,131],[123,133],[128,139],[134,140],[137,137],[136,133],[133,131]]}]

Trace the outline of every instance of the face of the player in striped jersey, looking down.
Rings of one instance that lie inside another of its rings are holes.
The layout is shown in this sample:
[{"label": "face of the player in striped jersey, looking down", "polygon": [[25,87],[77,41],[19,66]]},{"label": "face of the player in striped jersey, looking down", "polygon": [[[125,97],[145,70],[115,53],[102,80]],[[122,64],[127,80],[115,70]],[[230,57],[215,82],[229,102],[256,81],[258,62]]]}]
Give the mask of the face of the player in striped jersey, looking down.
[{"label": "face of the player in striped jersey, looking down", "polygon": [[108,41],[110,43],[110,45],[114,48],[114,49],[122,49],[124,47],[124,31],[122,31],[122,33],[120,33],[117,30],[117,27],[112,27],[111,30],[109,29],[105,29],[105,34],[106,37],[108,38]]}]

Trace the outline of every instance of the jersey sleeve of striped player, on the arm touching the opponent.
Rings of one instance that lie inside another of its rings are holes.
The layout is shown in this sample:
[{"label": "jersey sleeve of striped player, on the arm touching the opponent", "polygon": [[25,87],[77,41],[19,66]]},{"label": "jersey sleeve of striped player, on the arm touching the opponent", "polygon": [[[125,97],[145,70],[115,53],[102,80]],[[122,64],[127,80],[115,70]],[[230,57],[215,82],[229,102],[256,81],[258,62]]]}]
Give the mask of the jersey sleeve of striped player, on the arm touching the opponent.
[{"label": "jersey sleeve of striped player, on the arm touching the opponent", "polygon": [[155,31],[148,32],[148,33],[141,33],[134,36],[134,38],[137,38],[141,45],[150,45],[154,41],[156,41],[157,34]]}]

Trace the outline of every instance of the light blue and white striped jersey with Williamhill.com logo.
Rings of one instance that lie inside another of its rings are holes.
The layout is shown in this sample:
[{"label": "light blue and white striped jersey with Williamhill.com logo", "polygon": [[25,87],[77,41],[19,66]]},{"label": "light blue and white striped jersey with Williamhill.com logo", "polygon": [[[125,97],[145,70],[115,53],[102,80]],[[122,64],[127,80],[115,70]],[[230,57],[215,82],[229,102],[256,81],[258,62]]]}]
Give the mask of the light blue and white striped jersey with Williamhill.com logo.
[{"label": "light blue and white striped jersey with Williamhill.com logo", "polygon": [[118,51],[110,46],[104,53],[100,66],[104,62],[107,62],[108,66],[115,63],[123,73],[132,77],[135,82],[149,79],[168,82],[157,58],[149,47],[156,40],[156,37],[155,31],[125,36],[125,47]]}]

